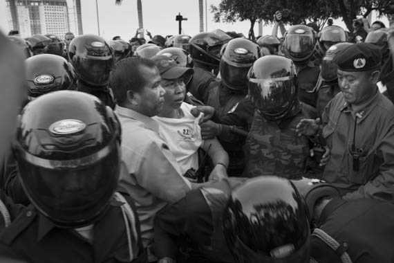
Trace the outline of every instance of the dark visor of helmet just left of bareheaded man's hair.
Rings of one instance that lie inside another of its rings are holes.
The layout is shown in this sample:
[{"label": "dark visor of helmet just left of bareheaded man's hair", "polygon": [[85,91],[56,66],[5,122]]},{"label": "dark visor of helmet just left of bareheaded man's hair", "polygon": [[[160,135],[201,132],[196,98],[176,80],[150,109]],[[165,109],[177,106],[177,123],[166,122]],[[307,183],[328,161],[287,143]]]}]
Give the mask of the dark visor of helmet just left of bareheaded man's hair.
[{"label": "dark visor of helmet just left of bareheaded man's hair", "polygon": [[104,86],[108,83],[113,57],[106,57],[104,60],[79,57],[78,60],[75,71],[84,82],[93,86]]}]

